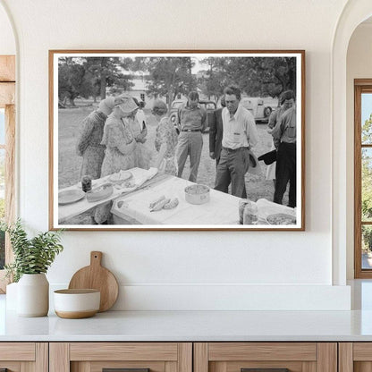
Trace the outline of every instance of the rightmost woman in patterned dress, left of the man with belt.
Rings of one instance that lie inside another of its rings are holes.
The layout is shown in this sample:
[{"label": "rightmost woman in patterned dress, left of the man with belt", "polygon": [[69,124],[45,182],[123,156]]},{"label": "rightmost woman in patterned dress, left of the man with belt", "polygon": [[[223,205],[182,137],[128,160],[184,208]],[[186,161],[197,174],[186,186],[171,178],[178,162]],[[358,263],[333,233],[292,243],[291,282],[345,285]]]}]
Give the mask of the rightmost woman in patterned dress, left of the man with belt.
[{"label": "rightmost woman in patterned dress, left of the man with belt", "polygon": [[156,99],[152,109],[152,114],[154,114],[158,122],[155,137],[155,148],[158,155],[155,166],[159,173],[177,175],[175,148],[178,137],[173,123],[166,116],[167,111],[165,103],[160,99]]}]

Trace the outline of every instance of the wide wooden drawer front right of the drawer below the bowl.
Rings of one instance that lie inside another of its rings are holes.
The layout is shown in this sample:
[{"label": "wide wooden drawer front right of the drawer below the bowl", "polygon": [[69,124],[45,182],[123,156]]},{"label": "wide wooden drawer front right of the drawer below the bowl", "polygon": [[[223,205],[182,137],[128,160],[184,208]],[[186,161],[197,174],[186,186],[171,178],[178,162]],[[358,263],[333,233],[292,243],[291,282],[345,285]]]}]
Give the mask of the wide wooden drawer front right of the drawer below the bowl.
[{"label": "wide wooden drawer front right of the drawer below the bowl", "polygon": [[[287,368],[290,372],[337,372],[335,342],[197,342],[194,372],[241,372]],[[369,371],[369,372],[372,372]]]}]

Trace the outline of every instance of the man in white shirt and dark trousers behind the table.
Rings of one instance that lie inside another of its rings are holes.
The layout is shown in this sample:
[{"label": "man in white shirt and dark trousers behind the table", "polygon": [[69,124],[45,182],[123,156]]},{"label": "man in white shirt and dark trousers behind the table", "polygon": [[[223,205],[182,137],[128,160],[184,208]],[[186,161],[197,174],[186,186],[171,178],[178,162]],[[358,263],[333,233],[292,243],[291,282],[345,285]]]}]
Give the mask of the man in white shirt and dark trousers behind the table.
[{"label": "man in white shirt and dark trousers behind the table", "polygon": [[232,195],[246,199],[244,176],[249,168],[249,148],[258,143],[258,131],[253,115],[239,105],[241,90],[238,87],[224,89],[224,100],[224,134],[215,190],[227,193],[231,183]]}]

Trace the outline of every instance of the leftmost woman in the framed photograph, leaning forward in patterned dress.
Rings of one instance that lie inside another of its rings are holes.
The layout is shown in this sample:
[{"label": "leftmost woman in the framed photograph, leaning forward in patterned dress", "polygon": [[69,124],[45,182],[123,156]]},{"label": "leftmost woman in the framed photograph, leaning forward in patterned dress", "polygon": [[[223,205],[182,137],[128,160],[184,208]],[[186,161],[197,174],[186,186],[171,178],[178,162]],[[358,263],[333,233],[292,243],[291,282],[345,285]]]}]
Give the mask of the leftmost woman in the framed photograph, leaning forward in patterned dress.
[{"label": "leftmost woman in the framed photograph, leaning forward in patterned dress", "polygon": [[97,110],[90,113],[82,122],[81,132],[76,144],[76,152],[82,156],[80,178],[89,175],[93,180],[101,177],[105,145],[101,145],[107,116],[114,108],[114,97],[103,99]]}]

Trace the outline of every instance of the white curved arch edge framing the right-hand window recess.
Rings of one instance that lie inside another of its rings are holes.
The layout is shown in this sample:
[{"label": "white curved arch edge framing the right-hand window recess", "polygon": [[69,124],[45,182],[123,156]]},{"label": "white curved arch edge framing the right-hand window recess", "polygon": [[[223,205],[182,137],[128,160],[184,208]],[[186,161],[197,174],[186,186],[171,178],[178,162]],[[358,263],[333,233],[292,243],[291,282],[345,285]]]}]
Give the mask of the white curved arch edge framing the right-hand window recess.
[{"label": "white curved arch edge framing the right-hand window recess", "polygon": [[[348,138],[347,120],[347,51],[353,31],[359,23],[372,15],[370,0],[349,1],[340,16],[334,33],[332,48],[332,123],[333,123],[333,177],[332,177],[332,231],[333,231],[333,283],[346,284],[346,267],[350,258],[350,241],[353,233],[353,147]],[[352,144],[353,145],[353,144]],[[346,149],[346,151],[345,151]],[[349,166],[348,166],[349,165]]]}]

